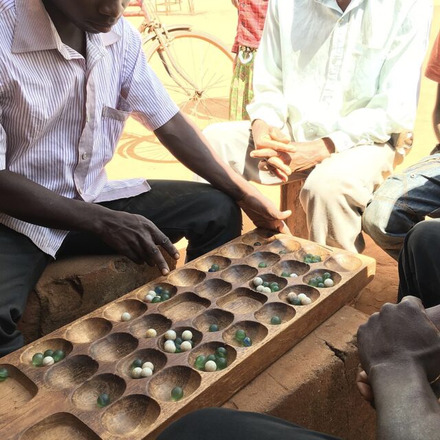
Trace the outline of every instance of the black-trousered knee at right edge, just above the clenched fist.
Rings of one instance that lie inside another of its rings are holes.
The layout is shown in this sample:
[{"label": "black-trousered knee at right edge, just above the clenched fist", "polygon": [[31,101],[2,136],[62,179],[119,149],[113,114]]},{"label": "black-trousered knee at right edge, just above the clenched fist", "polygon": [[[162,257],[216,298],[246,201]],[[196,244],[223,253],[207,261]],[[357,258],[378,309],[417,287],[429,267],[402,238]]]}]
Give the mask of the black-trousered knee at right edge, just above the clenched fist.
[{"label": "black-trousered knee at right edge, just above the clenched fist", "polygon": [[440,220],[417,223],[406,234],[399,256],[399,296],[421,299],[423,307],[440,304]]}]

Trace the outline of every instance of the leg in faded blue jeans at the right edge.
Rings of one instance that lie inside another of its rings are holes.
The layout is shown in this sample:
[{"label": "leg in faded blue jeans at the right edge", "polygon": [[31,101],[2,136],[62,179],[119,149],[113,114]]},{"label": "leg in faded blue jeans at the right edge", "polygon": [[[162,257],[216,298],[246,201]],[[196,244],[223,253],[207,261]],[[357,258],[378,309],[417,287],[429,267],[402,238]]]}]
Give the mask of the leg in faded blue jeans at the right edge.
[{"label": "leg in faded blue jeans at the right edge", "polygon": [[388,177],[367,206],[362,227],[397,260],[408,231],[427,215],[438,217],[439,206],[440,154],[435,154]]}]

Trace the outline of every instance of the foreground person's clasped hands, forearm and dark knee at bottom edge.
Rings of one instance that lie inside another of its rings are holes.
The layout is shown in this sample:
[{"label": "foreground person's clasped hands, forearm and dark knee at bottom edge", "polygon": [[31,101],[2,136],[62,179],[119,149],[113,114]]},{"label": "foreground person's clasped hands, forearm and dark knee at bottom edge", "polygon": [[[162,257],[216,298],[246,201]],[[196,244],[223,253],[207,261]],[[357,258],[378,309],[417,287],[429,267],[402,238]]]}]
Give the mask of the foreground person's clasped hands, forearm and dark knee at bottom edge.
[{"label": "foreground person's clasped hands, forearm and dark knee at bottom edge", "polygon": [[[437,328],[436,328],[437,327]],[[440,308],[417,298],[386,304],[358,331],[358,388],[377,410],[378,440],[437,440]],[[368,373],[368,374],[367,374]],[[336,440],[263,414],[207,408],[179,419],[157,440]]]}]

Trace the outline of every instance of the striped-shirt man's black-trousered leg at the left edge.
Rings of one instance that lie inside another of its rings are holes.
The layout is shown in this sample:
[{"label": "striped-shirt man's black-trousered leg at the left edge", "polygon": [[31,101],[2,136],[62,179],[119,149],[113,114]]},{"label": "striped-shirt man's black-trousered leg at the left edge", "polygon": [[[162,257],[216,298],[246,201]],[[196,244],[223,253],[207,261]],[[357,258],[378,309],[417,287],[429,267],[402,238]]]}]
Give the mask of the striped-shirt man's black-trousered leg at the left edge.
[{"label": "striped-shirt man's black-trousered leg at the left edge", "polygon": [[27,236],[0,225],[0,358],[23,347],[17,322],[50,261]]}]

